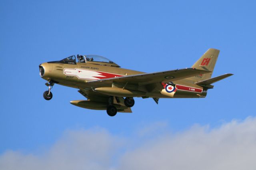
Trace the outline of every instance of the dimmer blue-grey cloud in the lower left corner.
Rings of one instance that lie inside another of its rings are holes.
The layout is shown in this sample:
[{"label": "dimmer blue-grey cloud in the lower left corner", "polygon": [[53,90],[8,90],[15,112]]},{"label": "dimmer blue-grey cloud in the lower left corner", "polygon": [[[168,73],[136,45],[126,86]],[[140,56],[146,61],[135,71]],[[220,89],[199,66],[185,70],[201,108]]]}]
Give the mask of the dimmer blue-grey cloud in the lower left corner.
[{"label": "dimmer blue-grey cloud in the lower left corner", "polygon": [[1,170],[101,170],[108,169],[122,140],[105,130],[77,130],[41,155],[7,151],[0,156]]}]

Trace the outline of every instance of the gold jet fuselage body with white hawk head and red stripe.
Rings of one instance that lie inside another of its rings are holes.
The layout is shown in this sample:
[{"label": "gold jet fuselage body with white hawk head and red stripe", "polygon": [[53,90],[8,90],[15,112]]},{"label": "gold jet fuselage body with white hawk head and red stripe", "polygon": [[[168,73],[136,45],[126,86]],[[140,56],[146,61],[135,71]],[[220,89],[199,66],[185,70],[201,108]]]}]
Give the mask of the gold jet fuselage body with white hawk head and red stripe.
[{"label": "gold jet fuselage body with white hawk head and red stripe", "polygon": [[[41,67],[44,67],[44,75],[42,76],[43,79],[47,81],[52,80],[57,82],[59,85],[77,89],[91,89],[91,86],[87,85],[87,82],[89,81],[144,73],[141,71],[134,71],[120,67],[97,65],[91,63],[42,63]],[[177,88],[173,96],[168,96],[168,93],[166,93],[167,95],[161,94],[160,91],[154,91],[151,93],[145,91],[143,94],[140,94],[137,97],[148,96],[158,98],[201,98],[206,96],[207,91],[204,91],[202,87],[195,85],[194,82],[190,79],[173,81],[172,83],[175,84]],[[163,89],[166,87],[165,84],[162,84],[162,86]],[[96,85],[93,88],[96,89],[98,87],[101,86]],[[109,84],[106,87],[112,87],[112,84]],[[142,89],[133,87],[132,90],[141,91]]]}]

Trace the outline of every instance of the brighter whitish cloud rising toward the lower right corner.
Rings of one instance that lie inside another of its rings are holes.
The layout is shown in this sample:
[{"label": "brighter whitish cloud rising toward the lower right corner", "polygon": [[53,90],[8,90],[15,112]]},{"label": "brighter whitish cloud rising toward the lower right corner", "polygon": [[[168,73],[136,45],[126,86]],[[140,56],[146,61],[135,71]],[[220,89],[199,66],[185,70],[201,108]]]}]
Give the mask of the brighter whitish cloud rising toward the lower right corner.
[{"label": "brighter whitish cloud rising toward the lower right corner", "polygon": [[165,134],[126,153],[120,169],[255,170],[256,119],[232,121],[213,130],[194,126],[180,134]]}]

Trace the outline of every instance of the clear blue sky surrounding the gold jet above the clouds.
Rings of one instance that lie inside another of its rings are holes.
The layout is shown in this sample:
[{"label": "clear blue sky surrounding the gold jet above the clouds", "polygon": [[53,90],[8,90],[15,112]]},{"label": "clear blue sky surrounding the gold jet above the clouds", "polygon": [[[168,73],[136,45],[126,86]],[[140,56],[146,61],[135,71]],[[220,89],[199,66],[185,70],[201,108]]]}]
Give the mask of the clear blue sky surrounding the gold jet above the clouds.
[{"label": "clear blue sky surrounding the gold jet above the clouds", "polygon": [[[195,124],[211,129],[255,117],[255,7],[252,0],[1,0],[0,155],[44,153],[67,130],[104,129],[133,140],[150,129],[147,142]],[[77,89],[55,85],[51,101],[42,97],[47,87],[38,65],[46,61],[97,54],[123,68],[155,72],[190,67],[208,48],[220,49],[213,76],[234,75],[215,83],[205,99],[160,99],[156,105],[136,98],[132,114],[109,117],[71,105],[85,99]]]}]

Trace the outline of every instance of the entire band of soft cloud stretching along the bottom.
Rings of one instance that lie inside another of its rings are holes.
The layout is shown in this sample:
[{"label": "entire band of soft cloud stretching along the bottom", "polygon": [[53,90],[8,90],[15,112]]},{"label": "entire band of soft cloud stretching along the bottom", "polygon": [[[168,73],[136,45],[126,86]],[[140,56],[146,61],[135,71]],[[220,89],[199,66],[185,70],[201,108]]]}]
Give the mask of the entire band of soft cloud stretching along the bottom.
[{"label": "entire band of soft cloud stretching along the bottom", "polygon": [[[166,128],[156,123],[157,128]],[[124,138],[104,129],[67,130],[42,154],[8,150],[1,170],[255,170],[256,118],[150,138],[152,125]],[[150,130],[148,130],[150,129]],[[143,132],[143,133],[142,133]],[[142,135],[146,135],[146,139]],[[136,140],[134,140],[136,139]]]}]

